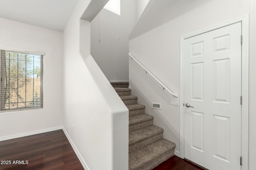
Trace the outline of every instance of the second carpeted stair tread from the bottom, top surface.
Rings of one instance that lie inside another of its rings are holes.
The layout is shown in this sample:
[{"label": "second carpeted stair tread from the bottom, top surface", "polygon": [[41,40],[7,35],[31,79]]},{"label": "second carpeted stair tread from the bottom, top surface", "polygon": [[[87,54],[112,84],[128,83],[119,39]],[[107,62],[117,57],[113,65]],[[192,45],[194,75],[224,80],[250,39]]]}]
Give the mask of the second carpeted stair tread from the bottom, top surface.
[{"label": "second carpeted stair tread from the bottom, top surface", "polygon": [[129,133],[129,145],[136,142],[142,141],[159,133],[163,133],[164,129],[155,125],[144,127],[136,131],[131,131]]}]

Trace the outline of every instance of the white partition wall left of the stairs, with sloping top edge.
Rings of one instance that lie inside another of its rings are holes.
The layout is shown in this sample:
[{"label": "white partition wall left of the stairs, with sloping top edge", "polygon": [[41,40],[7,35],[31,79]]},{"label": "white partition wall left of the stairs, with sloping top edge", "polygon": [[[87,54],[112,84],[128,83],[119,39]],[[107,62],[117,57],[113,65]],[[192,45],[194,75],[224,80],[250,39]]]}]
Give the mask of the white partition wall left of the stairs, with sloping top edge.
[{"label": "white partition wall left of the stairs, with sloping top edge", "polygon": [[80,20],[89,3],[78,1],[64,29],[64,128],[86,169],[128,170],[128,109],[90,55]]}]

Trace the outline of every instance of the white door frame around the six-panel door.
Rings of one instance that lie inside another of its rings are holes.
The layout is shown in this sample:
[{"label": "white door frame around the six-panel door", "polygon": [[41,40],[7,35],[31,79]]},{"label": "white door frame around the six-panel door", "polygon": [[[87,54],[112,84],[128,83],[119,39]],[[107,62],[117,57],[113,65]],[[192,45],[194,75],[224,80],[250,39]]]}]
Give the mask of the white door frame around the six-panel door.
[{"label": "white door frame around the six-panel door", "polygon": [[242,115],[241,115],[241,170],[248,170],[248,115],[249,115],[249,14],[225,21],[212,27],[180,37],[180,158],[184,159],[184,56],[182,45],[185,39],[242,22]]}]

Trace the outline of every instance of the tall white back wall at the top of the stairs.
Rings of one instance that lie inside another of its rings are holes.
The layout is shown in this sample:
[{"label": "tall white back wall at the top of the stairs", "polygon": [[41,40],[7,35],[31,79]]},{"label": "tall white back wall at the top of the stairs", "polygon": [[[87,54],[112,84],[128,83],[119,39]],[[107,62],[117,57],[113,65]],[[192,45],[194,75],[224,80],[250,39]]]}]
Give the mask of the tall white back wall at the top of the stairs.
[{"label": "tall white back wall at the top of the stairs", "polygon": [[136,0],[121,0],[120,11],[119,16],[102,9],[92,20],[91,54],[108,80],[128,81],[128,37],[136,23]]}]

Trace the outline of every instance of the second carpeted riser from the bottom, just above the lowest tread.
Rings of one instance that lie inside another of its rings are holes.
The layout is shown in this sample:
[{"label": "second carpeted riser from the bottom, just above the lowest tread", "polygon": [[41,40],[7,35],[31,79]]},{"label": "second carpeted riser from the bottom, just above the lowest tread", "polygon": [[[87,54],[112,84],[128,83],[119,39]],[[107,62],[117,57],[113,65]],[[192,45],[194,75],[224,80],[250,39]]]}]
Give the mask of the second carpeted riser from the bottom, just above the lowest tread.
[{"label": "second carpeted riser from the bottom, just above the lowest tread", "polygon": [[129,152],[132,152],[134,150],[140,149],[150,143],[153,143],[155,141],[158,141],[163,138],[163,133],[159,133],[157,135],[154,135],[152,137],[149,137],[147,139],[144,139],[143,141],[138,141],[136,143],[133,143],[132,145],[129,145]]}]

